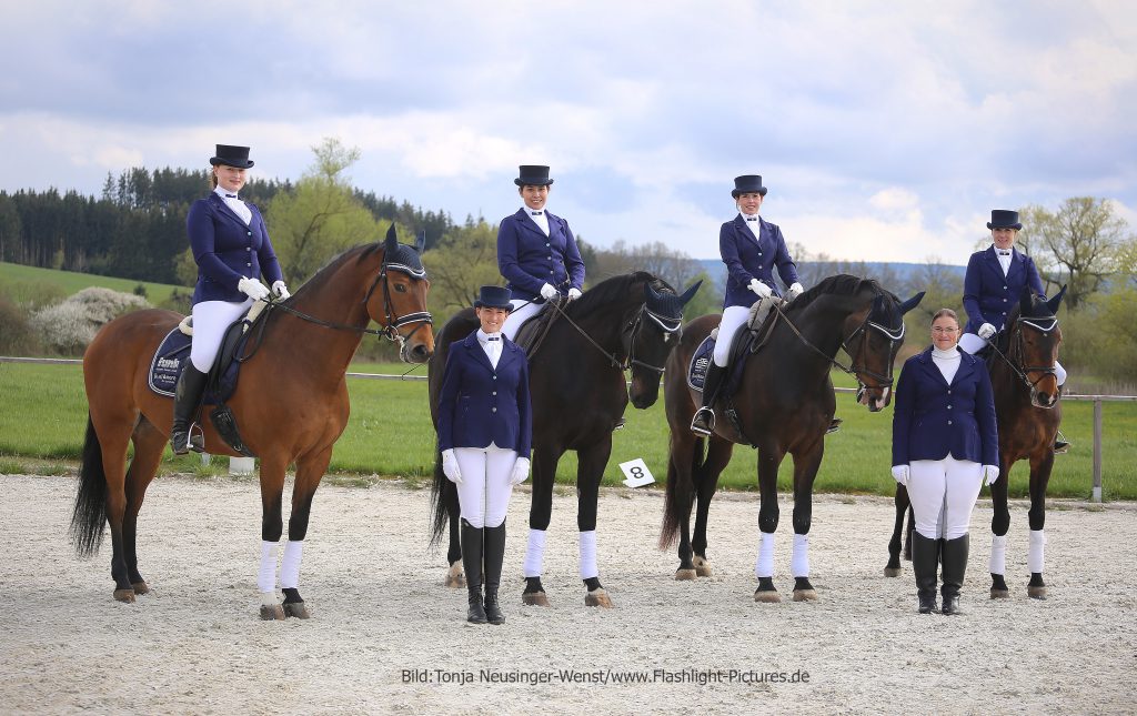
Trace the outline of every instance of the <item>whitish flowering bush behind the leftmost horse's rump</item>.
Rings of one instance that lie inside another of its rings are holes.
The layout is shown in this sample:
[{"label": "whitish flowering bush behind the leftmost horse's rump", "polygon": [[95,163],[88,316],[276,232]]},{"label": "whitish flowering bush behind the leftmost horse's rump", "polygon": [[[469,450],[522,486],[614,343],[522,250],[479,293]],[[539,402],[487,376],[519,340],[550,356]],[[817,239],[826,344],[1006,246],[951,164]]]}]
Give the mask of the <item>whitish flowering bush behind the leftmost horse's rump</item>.
[{"label": "whitish flowering bush behind the leftmost horse's rump", "polygon": [[30,323],[44,345],[61,353],[78,355],[103,325],[126,311],[149,306],[141,295],[91,288],[61,303],[41,308],[32,314]]}]

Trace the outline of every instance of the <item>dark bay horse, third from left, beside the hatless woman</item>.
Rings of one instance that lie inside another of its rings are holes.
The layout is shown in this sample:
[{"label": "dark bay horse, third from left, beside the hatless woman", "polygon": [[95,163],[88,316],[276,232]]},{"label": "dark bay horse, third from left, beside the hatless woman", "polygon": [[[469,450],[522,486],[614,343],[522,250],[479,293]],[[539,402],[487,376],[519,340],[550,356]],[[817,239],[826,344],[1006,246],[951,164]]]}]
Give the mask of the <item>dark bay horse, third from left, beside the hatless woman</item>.
[{"label": "dark bay horse, third from left, beside the hatless woman", "polygon": [[[808,580],[808,540],[813,481],[824,453],[824,436],[836,401],[829,372],[838,349],[852,357],[846,371],[856,375],[858,402],[869,410],[891,399],[893,360],[904,342],[904,314],[923,293],[901,302],[874,281],[838,275],[825,278],[789,302],[763,348],[749,356],[730,407],[737,423],[724,415],[727,398],[715,406],[715,432],[704,439],[689,430],[700,396],[687,384],[687,367],[699,343],[719,324],[703,316],[683,332],[679,349],[667,360],[664,401],[671,425],[667,494],[659,548],[679,538],[677,580],[711,574],[706,558],[706,524],[719,475],[730,463],[735,443],[757,448],[762,507],[762,546],[755,572],[756,601],[780,601],[773,585],[773,534],[778,527],[778,467],[794,456],[794,599],[816,599]],[[844,366],[840,366],[844,368]],[[695,535],[690,513],[697,502]]]}]

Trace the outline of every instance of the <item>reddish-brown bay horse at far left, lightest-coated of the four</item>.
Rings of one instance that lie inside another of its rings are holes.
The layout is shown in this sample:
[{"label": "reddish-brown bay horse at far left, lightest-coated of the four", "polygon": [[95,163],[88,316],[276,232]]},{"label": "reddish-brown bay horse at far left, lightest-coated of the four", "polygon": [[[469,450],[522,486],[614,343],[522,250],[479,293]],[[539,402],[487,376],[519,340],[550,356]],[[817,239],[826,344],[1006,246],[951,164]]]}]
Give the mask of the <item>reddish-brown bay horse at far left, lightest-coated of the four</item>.
[{"label": "reddish-brown bay horse at far left, lightest-coated of the four", "polygon": [[[247,356],[227,405],[244,444],[260,458],[262,618],[309,615],[298,584],[284,583],[283,567],[283,606],[275,593],[285,469],[296,464],[284,561],[292,560],[290,574],[298,581],[312,500],[348,422],[348,364],[364,333],[399,342],[407,363],[428,360],[434,345],[429,285],[417,251],[399,244],[392,227],[385,242],[334,258],[294,295],[271,306],[260,318],[263,330],[254,326],[259,347]],[[150,591],[139,572],[138,516],[167,444],[173,399],[150,390],[148,372],[155,350],[181,319],[169,310],[127,314],[103,326],[83,356],[90,409],[70,532],[78,555],[90,557],[110,523],[110,575],[119,601],[133,602],[135,594]],[[381,328],[367,328],[371,320]],[[209,421],[201,423],[207,452],[239,455]],[[131,442],[134,457],[127,466]]]}]

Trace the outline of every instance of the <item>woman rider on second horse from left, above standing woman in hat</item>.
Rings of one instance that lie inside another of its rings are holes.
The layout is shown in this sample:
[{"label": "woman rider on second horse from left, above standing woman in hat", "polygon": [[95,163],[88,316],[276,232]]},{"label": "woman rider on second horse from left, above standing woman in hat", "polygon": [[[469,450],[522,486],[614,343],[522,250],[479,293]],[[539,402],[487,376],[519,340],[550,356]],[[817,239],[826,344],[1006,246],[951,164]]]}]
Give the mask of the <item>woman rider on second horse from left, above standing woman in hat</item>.
[{"label": "woman rider on second horse from left, above standing woman in hat", "polygon": [[558,294],[572,301],[584,286],[584,261],[568,222],[545,209],[553,185],[549,167],[518,169],[513,183],[524,206],[498,228],[498,270],[513,291],[513,313],[501,331],[511,339],[545,301]]}]

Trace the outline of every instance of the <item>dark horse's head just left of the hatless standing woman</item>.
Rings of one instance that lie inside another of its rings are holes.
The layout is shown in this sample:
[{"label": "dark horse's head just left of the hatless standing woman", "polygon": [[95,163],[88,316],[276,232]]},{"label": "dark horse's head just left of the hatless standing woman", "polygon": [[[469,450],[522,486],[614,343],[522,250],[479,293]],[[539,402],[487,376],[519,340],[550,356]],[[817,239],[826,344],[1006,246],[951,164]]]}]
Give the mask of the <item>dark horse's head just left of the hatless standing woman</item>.
[{"label": "dark horse's head just left of the hatless standing woman", "polygon": [[893,363],[904,344],[904,314],[920,305],[921,291],[906,301],[877,286],[866,310],[852,314],[845,322],[847,336],[841,347],[853,359],[857,380],[857,402],[877,413],[893,399]]}]

